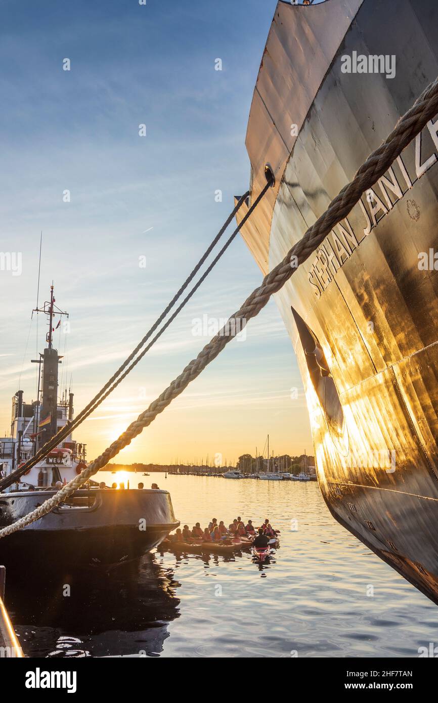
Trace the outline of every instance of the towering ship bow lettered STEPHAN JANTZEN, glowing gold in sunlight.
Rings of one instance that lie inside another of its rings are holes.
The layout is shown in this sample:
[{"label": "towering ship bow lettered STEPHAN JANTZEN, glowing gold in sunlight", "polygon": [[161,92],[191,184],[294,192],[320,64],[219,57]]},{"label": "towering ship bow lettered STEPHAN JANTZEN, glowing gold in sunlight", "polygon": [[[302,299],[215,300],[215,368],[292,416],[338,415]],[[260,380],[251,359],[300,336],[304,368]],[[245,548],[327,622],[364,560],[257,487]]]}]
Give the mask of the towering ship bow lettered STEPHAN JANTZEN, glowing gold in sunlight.
[{"label": "towering ship bow lettered STEPHAN JANTZEN, glowing gold in sunlight", "polygon": [[[437,77],[437,53],[432,0],[400,0],[397,22],[379,0],[278,4],[247,131],[251,200],[266,163],[276,176],[243,229],[263,273]],[[359,73],[344,72],[346,56],[388,58]],[[276,295],[330,512],[436,603],[437,128],[435,116]]]}]

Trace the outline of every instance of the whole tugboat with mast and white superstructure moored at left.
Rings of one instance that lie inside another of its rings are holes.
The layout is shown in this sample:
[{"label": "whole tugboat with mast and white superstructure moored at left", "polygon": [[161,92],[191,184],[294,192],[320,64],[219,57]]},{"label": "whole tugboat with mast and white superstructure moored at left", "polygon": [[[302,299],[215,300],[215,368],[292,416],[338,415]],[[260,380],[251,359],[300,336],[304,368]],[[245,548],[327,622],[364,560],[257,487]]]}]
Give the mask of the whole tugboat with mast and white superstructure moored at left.
[{"label": "whole tugboat with mast and white superstructure moored at left", "polygon": [[[49,332],[46,348],[36,360],[37,400],[25,403],[18,390],[12,401],[10,437],[0,437],[0,528],[37,508],[86,467],[86,445],[70,433],[18,482],[8,481],[8,475],[73,420],[72,392],[58,398],[62,357],[53,347],[53,332],[67,313],[56,307],[53,285],[50,300],[34,311],[48,317]],[[113,565],[153,549],[178,526],[168,491],[117,490],[90,481],[49,515],[1,538],[0,563],[49,554],[69,565]]]}]

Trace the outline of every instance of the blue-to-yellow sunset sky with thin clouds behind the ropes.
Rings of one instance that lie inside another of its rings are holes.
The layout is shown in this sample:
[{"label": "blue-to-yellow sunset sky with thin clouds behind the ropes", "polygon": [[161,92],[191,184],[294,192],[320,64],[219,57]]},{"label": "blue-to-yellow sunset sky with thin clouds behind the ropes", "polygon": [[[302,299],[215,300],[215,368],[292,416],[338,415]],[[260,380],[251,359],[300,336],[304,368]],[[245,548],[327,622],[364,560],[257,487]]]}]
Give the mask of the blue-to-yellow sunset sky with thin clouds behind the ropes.
[{"label": "blue-to-yellow sunset sky with thin clouds behind the ropes", "polygon": [[[39,302],[53,280],[56,304],[70,313],[70,333],[61,328],[55,337],[66,355],[59,394],[71,377],[79,412],[179,288],[233,195],[249,186],[247,117],[276,0],[5,0],[2,7],[0,249],[22,254],[20,276],[0,271],[4,434],[19,383],[26,401],[37,394],[30,359],[44,348],[46,321],[31,323],[30,314],[40,231]],[[193,321],[226,318],[261,280],[236,239],[160,342],[77,430],[89,459],[208,341],[193,335]],[[275,453],[313,453],[297,363],[273,301],[246,339],[228,344],[117,461],[194,462],[221,453],[229,462],[261,451],[268,432]]]}]

